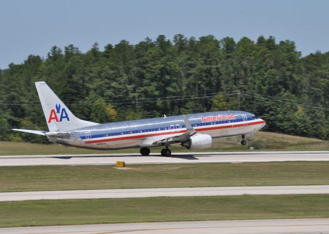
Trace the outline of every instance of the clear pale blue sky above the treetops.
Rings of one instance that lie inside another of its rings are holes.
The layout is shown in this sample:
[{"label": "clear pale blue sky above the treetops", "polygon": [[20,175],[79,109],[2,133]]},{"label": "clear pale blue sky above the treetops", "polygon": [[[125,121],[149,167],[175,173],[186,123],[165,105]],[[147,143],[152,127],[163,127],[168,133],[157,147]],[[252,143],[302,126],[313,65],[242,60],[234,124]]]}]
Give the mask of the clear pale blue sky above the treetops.
[{"label": "clear pale blue sky above the treetops", "polygon": [[86,52],[95,42],[138,44],[160,34],[196,38],[260,35],[293,40],[302,56],[329,51],[326,0],[0,0],[0,69],[30,54],[73,44]]}]

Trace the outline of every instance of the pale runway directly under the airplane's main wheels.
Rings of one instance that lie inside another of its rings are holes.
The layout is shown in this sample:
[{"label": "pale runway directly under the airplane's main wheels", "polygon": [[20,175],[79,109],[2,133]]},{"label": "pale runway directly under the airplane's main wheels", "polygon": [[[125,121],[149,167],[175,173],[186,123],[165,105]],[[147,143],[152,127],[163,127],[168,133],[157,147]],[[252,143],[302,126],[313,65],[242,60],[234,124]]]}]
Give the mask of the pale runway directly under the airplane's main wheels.
[{"label": "pale runway directly under the airplane's main wheels", "polygon": [[160,154],[80,154],[80,155],[20,155],[0,156],[0,166],[32,165],[114,165],[158,163],[211,163],[211,162],[271,162],[271,161],[329,161],[329,151],[314,152],[205,152]]}]

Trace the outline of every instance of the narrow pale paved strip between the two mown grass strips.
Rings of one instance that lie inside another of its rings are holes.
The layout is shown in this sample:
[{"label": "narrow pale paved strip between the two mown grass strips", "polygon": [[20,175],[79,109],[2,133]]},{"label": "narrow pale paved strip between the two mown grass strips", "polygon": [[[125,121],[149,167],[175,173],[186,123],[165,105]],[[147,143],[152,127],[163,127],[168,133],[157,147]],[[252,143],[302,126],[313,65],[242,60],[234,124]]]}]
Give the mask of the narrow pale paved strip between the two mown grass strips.
[{"label": "narrow pale paved strip between the two mown grass strips", "polygon": [[0,193],[0,202],[42,199],[100,199],[232,195],[329,194],[329,185],[133,188]]}]

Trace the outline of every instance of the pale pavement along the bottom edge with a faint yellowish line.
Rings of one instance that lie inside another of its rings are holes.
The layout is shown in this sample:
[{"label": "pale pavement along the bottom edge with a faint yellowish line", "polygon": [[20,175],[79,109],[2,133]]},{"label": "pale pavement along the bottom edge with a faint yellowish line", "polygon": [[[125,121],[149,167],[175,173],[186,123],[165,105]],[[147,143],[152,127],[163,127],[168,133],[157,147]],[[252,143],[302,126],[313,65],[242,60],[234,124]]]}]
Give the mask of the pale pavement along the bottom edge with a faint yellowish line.
[{"label": "pale pavement along the bottom edge with a faint yellowish line", "polygon": [[329,219],[229,220],[161,223],[120,223],[0,228],[6,234],[274,234],[329,233]]}]

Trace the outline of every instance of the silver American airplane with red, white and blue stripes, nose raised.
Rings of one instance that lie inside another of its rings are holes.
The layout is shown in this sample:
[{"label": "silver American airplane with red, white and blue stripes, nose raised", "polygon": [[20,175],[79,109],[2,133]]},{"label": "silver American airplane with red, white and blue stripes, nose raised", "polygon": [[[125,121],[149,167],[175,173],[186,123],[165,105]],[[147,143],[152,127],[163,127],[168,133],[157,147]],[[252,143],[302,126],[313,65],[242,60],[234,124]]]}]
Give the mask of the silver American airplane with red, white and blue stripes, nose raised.
[{"label": "silver American airplane with red, white and blue stripes, nose raised", "polygon": [[95,123],[77,118],[48,87],[35,82],[49,131],[12,129],[43,135],[49,142],[93,150],[140,148],[150,154],[150,147],[165,146],[161,156],[171,156],[169,146],[180,144],[190,150],[212,145],[213,138],[247,136],[265,126],[266,122],[244,111],[215,111],[198,114],[166,116],[112,123]]}]

